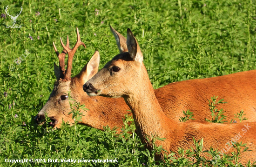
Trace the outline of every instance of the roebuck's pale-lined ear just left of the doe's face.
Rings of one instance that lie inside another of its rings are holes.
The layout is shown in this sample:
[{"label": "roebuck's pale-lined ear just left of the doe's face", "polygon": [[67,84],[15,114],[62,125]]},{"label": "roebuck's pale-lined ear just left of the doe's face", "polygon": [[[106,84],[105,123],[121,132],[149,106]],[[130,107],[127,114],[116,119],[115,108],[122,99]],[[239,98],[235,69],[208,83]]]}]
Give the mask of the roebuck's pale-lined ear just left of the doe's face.
[{"label": "roebuck's pale-lined ear just left of the doe's face", "polygon": [[91,79],[97,72],[100,64],[100,53],[95,51],[89,62],[82,68],[80,73],[75,77],[80,80],[81,84],[85,84],[89,79]]}]

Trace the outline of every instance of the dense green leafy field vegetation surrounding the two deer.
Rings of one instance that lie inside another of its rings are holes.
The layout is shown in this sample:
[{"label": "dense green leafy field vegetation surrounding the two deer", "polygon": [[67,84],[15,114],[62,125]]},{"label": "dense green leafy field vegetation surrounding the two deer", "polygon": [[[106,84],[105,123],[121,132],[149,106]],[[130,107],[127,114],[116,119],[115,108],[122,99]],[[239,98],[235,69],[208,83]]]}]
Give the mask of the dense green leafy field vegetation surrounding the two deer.
[{"label": "dense green leafy field vegetation surrounding the two deer", "polygon": [[[12,25],[10,17],[0,18],[0,166],[3,167],[12,166],[4,162],[6,158],[116,158],[116,164],[72,166],[143,167],[143,163],[154,166],[152,156],[136,134],[126,133],[129,129],[133,131],[134,126],[127,126],[123,138],[114,137],[110,130],[101,132],[81,125],[76,129],[65,125],[52,131],[34,124],[34,115],[46,103],[54,86],[53,63],[58,59],[52,42],[61,52],[59,39],[66,40],[69,35],[73,46],[76,27],[87,49],[77,50],[73,76],[95,50],[101,54],[100,68],[119,52],[109,25],[123,35],[128,27],[133,31],[154,88],[174,81],[256,69],[255,0],[0,0],[0,13],[5,13],[7,5],[10,13],[18,13],[20,6],[23,11],[16,21],[21,28],[7,28]],[[30,54],[16,65],[14,60],[26,49]],[[11,64],[15,67],[13,71],[8,69]],[[173,166],[185,166],[185,161],[182,159]],[[67,165],[71,164],[13,164]]]}]

